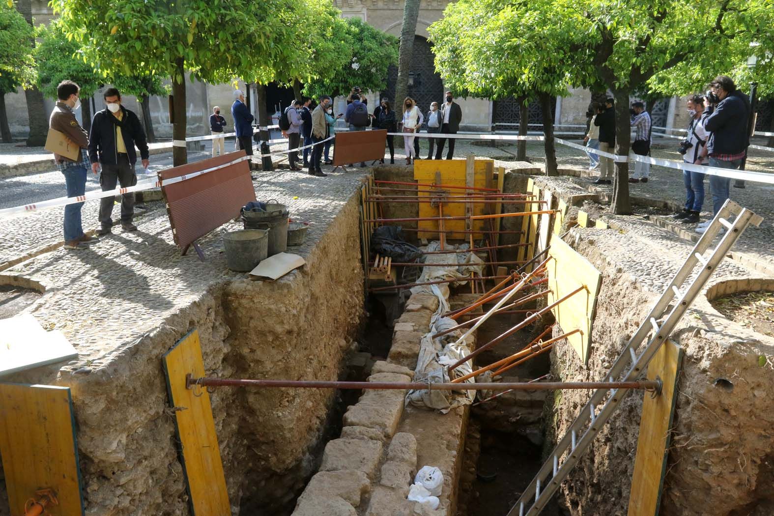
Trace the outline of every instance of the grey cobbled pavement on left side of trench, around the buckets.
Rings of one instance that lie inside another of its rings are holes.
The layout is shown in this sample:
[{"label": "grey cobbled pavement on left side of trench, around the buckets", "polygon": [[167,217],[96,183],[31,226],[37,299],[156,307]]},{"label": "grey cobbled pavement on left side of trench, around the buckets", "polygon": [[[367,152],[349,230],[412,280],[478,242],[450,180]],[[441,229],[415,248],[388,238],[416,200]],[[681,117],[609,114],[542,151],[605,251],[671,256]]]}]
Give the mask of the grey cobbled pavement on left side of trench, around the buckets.
[{"label": "grey cobbled pavement on left side of trench, around the buckets", "polygon": [[[259,173],[254,185],[259,199],[286,203],[293,219],[311,223],[305,244],[292,248],[306,256],[358,192],[364,172],[342,170],[327,178],[290,171]],[[81,359],[94,360],[109,352],[106,342],[115,346],[135,340],[203,296],[208,285],[245,277],[226,267],[222,241],[225,231],[241,229],[241,223],[224,224],[198,241],[204,262],[193,250],[180,255],[160,203],[136,224],[139,231],[118,229],[87,250],[59,248],[4,272],[46,285],[50,293],[36,307],[35,316],[77,343]],[[106,341],[105,335],[110,339]]]}]

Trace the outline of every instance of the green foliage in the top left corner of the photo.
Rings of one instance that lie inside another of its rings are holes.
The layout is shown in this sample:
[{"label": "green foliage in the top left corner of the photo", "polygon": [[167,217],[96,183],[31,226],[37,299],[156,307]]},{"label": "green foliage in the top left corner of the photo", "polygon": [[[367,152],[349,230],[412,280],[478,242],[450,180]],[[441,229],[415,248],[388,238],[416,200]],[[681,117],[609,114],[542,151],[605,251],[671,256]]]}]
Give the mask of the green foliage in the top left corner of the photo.
[{"label": "green foliage in the top left corner of the photo", "polygon": [[33,28],[13,4],[0,5],[0,93],[35,82]]}]

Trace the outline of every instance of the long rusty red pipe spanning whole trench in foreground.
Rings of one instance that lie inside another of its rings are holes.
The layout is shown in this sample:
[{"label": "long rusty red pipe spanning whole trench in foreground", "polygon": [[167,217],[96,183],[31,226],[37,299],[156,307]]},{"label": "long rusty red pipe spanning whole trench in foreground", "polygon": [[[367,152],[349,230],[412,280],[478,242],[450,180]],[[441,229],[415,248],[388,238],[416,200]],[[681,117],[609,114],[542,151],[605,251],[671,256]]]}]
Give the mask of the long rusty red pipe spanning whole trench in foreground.
[{"label": "long rusty red pipe spanning whole trench in foreground", "polygon": [[[190,375],[189,375],[190,376]],[[227,378],[187,378],[186,388],[195,387],[259,387],[259,388],[314,388],[314,389],[428,389],[430,391],[553,391],[557,389],[644,389],[657,391],[660,381],[555,381],[530,384],[525,381],[511,383],[452,384],[420,381],[309,381],[309,380],[229,380]]]}]

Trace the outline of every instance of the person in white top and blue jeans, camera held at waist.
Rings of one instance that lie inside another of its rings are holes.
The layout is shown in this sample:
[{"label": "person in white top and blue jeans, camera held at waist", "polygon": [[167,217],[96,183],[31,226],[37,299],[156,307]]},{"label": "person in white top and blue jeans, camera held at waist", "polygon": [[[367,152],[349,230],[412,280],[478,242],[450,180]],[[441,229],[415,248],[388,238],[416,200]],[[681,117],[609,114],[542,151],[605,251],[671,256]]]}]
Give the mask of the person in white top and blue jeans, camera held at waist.
[{"label": "person in white top and blue jeans, camera held at waist", "polygon": [[[683,162],[707,165],[707,131],[704,129],[703,120],[704,97],[691,95],[688,97],[686,108],[691,117],[688,135],[680,142],[680,148],[677,151],[683,155]],[[694,224],[699,221],[701,206],[704,204],[704,174],[683,170],[683,183],[685,184],[685,207],[673,218]]]}]

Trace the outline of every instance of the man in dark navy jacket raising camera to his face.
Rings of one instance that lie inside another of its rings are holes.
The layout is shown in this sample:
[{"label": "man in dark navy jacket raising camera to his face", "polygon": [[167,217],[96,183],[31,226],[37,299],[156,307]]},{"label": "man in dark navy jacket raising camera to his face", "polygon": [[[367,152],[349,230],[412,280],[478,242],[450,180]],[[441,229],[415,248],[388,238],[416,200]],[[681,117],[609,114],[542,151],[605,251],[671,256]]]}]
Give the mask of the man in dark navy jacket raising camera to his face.
[{"label": "man in dark navy jacket raising camera to his face", "polygon": [[[726,75],[715,77],[710,83],[710,104],[715,108],[707,109],[704,119],[704,129],[710,133],[707,139],[707,152],[710,155],[710,166],[721,169],[738,169],[745,157],[750,137],[747,133],[747,122],[750,116],[750,101],[747,95],[736,89],[734,80]],[[717,212],[728,199],[728,186],[731,179],[710,176],[712,190],[712,213]],[[705,227],[697,228],[700,233]]]}]

